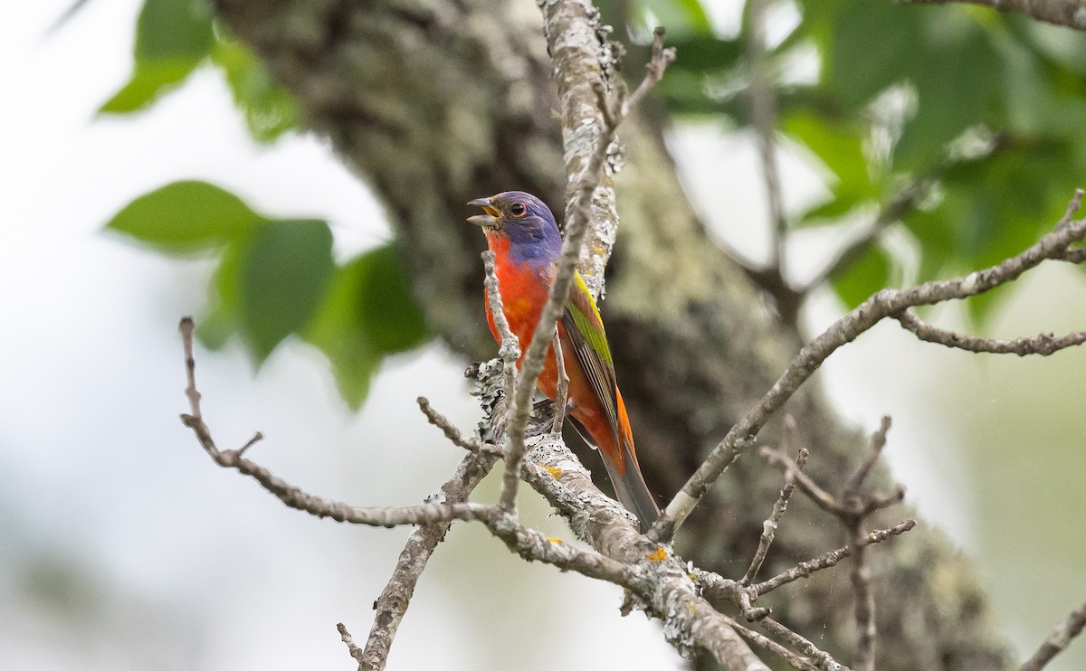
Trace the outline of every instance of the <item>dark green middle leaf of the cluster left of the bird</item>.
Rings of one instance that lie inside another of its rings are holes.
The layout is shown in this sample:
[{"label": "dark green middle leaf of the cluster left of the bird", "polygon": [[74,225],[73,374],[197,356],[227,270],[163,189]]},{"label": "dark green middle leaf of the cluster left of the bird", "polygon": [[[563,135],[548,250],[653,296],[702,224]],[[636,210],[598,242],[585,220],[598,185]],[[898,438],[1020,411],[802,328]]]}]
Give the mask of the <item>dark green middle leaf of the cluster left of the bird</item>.
[{"label": "dark green middle leaf of the cluster left of the bird", "polygon": [[310,324],[332,277],[331,252],[325,221],[268,221],[253,232],[239,257],[238,314],[257,363]]}]

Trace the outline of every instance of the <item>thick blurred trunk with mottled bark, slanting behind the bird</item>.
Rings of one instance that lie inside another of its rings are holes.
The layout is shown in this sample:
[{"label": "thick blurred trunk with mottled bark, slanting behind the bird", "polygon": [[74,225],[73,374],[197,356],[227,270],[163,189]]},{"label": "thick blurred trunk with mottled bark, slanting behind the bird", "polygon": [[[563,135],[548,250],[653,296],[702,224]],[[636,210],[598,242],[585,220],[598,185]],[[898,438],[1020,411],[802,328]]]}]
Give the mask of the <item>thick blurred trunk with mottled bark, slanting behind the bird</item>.
[{"label": "thick blurred trunk with mottled bark, slanting behind the bird", "polygon": [[[215,5],[296,97],[307,126],[330,138],[387,204],[430,324],[465,356],[493,356],[482,313],[484,242],[464,223],[465,203],[520,189],[563,211],[561,128],[539,12],[483,0]],[[799,337],[706,236],[658,134],[642,124],[633,118],[619,130],[628,156],[615,180],[621,228],[603,312],[641,464],[649,486],[670,497],[772,385]],[[811,385],[786,412],[799,446],[811,451],[811,474],[842,484],[863,438],[843,428]],[[778,419],[763,442],[779,433]],[[595,458],[585,455],[590,468]],[[748,455],[687,521],[677,549],[738,578],[780,485],[775,470]],[[895,508],[875,521],[889,526],[908,515]],[[762,574],[843,541],[833,520],[797,496]],[[921,526],[871,557],[876,668],[1009,667],[973,569],[937,531]],[[845,661],[856,633],[844,584],[843,575],[822,572],[768,605]]]}]

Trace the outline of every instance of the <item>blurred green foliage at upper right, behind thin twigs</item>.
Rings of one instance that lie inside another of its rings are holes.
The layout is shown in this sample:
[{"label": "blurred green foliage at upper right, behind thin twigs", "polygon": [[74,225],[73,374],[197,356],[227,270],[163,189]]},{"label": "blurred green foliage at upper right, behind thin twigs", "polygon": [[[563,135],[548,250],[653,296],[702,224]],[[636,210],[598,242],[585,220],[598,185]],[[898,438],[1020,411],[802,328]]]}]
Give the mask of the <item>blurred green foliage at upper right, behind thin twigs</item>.
[{"label": "blurred green foliage at upper right, behind thin twigs", "polygon": [[[732,127],[749,126],[748,15],[737,34],[714,33],[700,16],[683,22],[678,9],[684,4],[634,5],[642,17],[651,12],[678,22],[666,26],[679,60],[657,92],[673,116],[716,115]],[[774,18],[780,26],[796,17],[766,55],[779,130],[833,175],[830,198],[793,227],[873,220],[922,182],[926,188],[888,224],[917,242],[920,270],[910,279],[926,281],[1022,251],[1055,225],[1083,186],[1081,31],[976,7],[891,0],[778,0],[767,15],[771,34]],[[643,18],[631,24],[645,25]],[[790,67],[800,59],[818,61],[817,76],[796,81]],[[901,262],[874,238],[866,253],[849,255],[831,286],[853,306],[900,276],[892,269]],[[970,301],[978,319],[992,305],[990,295]]]}]

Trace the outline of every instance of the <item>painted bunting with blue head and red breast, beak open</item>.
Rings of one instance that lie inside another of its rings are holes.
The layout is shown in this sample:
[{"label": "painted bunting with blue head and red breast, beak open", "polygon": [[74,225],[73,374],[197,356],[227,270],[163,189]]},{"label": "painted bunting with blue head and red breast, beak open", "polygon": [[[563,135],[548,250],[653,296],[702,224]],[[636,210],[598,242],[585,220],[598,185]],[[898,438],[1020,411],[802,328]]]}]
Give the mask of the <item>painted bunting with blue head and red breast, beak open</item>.
[{"label": "painted bunting with blue head and red breast, beak open", "polygon": [[[483,229],[487,244],[494,253],[502,309],[509,329],[520,340],[523,359],[557,271],[561,251],[558,225],[543,201],[523,191],[506,191],[468,204],[478,205],[485,213],[468,217],[468,221]],[[484,304],[490,331],[501,342],[490,302],[484,300]],[[573,277],[565,311],[558,320],[558,342],[569,378],[566,417],[573,420],[589,444],[599,450],[618,499],[637,516],[642,530],[646,530],[659,517],[660,510],[637,467],[633,434],[615,381],[607,334],[596,303],[580,274]],[[551,345],[536,387],[552,401],[557,390],[557,370],[554,345]]]}]

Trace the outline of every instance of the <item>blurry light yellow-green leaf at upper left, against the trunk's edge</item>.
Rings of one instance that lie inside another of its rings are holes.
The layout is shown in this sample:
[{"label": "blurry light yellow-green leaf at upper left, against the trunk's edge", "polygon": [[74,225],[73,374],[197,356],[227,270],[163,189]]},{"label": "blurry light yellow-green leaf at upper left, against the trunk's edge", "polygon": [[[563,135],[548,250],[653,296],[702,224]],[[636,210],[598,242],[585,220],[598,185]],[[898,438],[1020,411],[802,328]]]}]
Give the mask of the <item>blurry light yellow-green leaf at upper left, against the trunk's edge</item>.
[{"label": "blurry light yellow-green leaf at upper left, against the trunk's edge", "polygon": [[243,113],[254,140],[273,142],[298,127],[294,99],[273,81],[264,64],[243,45],[233,39],[220,40],[212,51],[212,61],[222,68],[233,103]]}]

